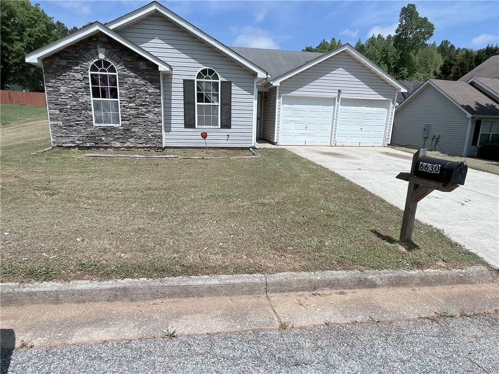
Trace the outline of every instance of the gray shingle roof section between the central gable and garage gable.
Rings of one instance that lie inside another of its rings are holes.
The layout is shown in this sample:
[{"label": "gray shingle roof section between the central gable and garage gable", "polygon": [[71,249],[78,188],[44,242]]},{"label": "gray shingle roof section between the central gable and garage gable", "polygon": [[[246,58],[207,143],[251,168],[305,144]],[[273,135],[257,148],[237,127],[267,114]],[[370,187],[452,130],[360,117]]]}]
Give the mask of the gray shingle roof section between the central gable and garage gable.
[{"label": "gray shingle roof section between the central gable and garage gable", "polygon": [[258,66],[261,66],[271,77],[282,75],[323,54],[320,52],[285,51],[280,49],[231,48]]}]

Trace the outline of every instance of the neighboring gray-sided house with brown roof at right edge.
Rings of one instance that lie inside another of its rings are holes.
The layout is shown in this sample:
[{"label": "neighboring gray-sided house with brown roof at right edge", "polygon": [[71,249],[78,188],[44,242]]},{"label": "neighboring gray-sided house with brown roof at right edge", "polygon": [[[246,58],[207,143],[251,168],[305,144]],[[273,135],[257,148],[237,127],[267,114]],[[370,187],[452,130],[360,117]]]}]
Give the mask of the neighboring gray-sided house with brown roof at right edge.
[{"label": "neighboring gray-sided house with brown roof at right edge", "polygon": [[467,81],[430,79],[395,109],[393,145],[477,156],[482,144],[497,140],[497,75]]}]

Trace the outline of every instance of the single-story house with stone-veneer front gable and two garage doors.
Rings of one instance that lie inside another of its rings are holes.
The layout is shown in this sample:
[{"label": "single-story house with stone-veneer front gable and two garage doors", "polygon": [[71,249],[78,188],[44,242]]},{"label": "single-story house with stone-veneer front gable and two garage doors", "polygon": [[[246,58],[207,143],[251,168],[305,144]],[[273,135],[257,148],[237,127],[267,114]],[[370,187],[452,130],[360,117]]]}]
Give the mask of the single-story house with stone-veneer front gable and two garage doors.
[{"label": "single-story house with stone-veneer front gable and two garage doors", "polygon": [[26,55],[53,146],[385,146],[406,88],[349,44],[230,48],[154,1]]}]

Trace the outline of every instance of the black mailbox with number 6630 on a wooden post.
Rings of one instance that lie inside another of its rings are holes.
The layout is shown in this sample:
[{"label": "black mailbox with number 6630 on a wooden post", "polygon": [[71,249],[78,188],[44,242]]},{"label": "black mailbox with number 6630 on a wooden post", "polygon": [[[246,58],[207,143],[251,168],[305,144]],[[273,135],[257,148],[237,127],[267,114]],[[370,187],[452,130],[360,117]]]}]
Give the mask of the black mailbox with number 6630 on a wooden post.
[{"label": "black mailbox with number 6630 on a wooden post", "polygon": [[463,161],[447,161],[420,157],[416,162],[416,177],[441,182],[444,185],[464,185],[468,166]]}]

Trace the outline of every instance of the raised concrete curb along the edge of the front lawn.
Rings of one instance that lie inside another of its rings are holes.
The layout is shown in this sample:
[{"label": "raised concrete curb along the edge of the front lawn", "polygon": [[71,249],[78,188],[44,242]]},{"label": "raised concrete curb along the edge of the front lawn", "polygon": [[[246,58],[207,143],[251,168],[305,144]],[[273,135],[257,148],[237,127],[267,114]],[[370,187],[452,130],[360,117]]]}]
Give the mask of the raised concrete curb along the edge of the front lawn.
[{"label": "raised concrete curb along the edge of the front lawn", "polygon": [[457,270],[319,271],[215,275],[161,279],[0,284],[2,307],[32,304],[139,301],[201,296],[266,295],[268,293],[355,288],[439,286],[491,283],[495,274],[484,266]]}]

